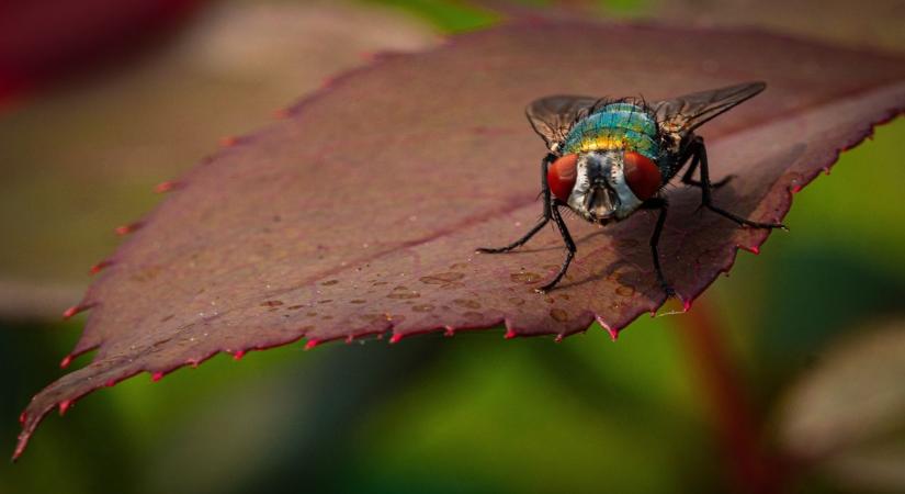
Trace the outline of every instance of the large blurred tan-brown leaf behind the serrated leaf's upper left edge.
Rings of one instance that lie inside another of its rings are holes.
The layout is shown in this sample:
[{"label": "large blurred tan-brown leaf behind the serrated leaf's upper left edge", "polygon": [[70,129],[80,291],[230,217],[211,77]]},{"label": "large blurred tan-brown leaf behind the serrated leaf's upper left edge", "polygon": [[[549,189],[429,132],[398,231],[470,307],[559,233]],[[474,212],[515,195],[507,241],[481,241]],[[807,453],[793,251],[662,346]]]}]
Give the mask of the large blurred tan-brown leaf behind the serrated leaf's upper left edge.
[{"label": "large blurred tan-brown leaf behind the serrated leaf's upper left edge", "polygon": [[196,21],[143,64],[2,115],[0,224],[15,235],[0,245],[0,314],[56,317],[110,254],[113,228],[159,200],[146,191],[171,186],[217,141],[268,124],[363,54],[435,37],[406,18],[336,2],[217,3]]}]

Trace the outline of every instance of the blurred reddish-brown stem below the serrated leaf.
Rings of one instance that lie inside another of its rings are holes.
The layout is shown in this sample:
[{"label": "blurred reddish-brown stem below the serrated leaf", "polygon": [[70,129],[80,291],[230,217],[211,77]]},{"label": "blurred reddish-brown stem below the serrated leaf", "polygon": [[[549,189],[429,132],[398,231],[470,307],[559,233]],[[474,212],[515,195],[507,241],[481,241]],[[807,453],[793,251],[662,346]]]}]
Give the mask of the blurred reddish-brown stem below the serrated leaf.
[{"label": "blurred reddish-brown stem below the serrated leaf", "polygon": [[698,301],[694,310],[675,321],[710,402],[711,414],[725,458],[729,462],[734,491],[739,493],[777,493],[787,491],[785,475],[776,458],[769,457],[758,439],[762,418],[746,395],[746,383],[721,339],[724,333],[706,303]]}]

